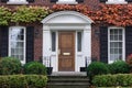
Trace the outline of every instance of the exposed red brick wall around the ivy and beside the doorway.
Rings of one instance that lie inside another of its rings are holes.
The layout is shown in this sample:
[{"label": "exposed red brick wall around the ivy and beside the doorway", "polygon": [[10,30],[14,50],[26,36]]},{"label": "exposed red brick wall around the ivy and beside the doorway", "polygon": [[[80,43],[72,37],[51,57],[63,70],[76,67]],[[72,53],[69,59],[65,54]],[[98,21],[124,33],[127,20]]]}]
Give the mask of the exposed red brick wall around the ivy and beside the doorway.
[{"label": "exposed red brick wall around the ivy and beside the doorway", "polygon": [[[45,7],[52,7],[55,3],[51,3],[50,0],[35,0],[32,3],[29,3],[28,6],[45,6]],[[84,3],[80,4],[86,4],[89,6],[92,10],[98,10],[99,6],[99,0],[85,0]],[[7,4],[3,2],[0,2],[0,6],[6,6],[9,7],[10,9],[13,9],[14,4]],[[12,24],[13,25],[13,24]],[[24,24],[20,24],[24,25]],[[42,48],[43,48],[43,24],[32,24],[34,26],[34,59],[38,61],[40,57],[42,56]],[[91,29],[91,56],[92,58],[98,58],[99,59],[99,37],[95,35],[95,30],[99,30],[97,25],[92,25]],[[38,32],[36,34],[36,32]]]}]

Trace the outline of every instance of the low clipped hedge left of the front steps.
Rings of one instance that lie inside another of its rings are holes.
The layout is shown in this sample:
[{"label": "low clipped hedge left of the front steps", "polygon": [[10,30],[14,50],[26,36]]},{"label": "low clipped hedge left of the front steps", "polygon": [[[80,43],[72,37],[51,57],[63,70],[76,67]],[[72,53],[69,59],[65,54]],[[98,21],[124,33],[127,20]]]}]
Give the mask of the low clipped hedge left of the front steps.
[{"label": "low clipped hedge left of the front steps", "polygon": [[44,88],[47,77],[44,75],[0,76],[0,88]]}]

